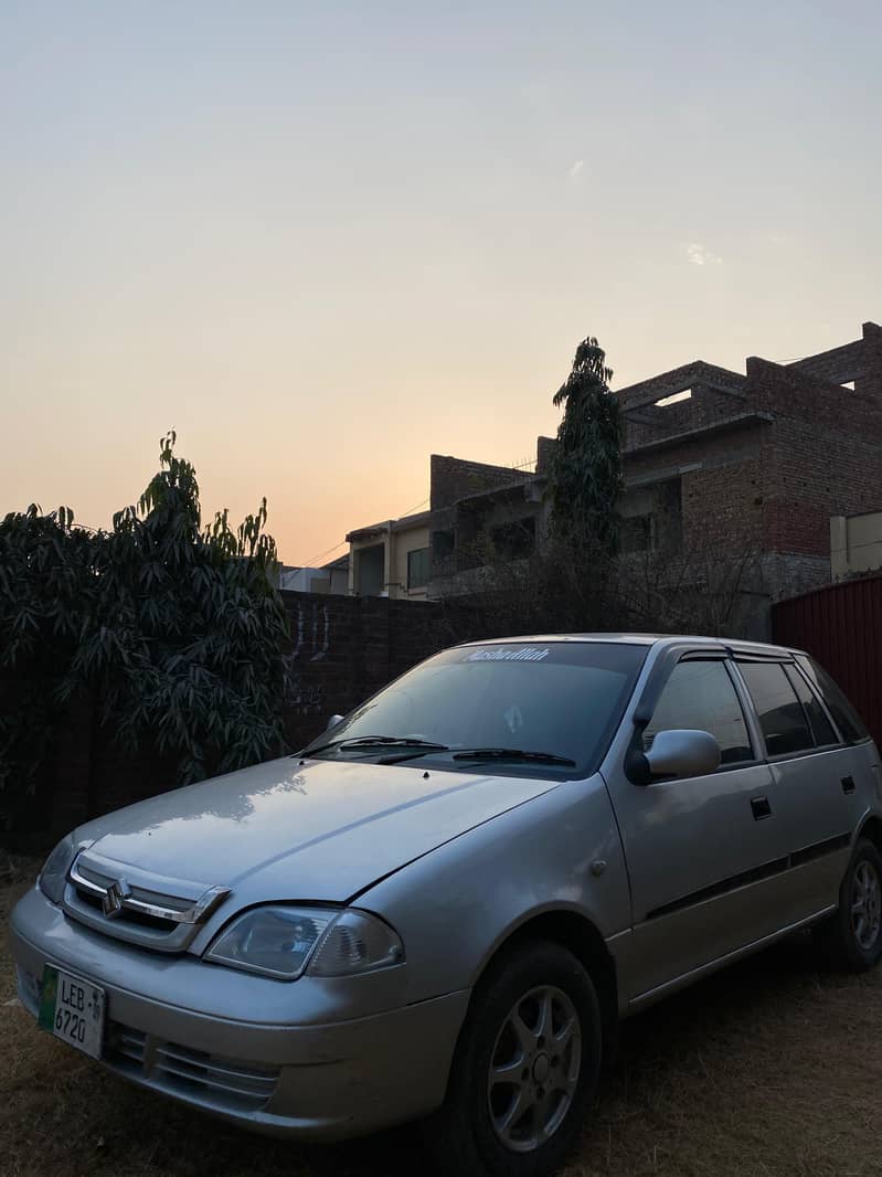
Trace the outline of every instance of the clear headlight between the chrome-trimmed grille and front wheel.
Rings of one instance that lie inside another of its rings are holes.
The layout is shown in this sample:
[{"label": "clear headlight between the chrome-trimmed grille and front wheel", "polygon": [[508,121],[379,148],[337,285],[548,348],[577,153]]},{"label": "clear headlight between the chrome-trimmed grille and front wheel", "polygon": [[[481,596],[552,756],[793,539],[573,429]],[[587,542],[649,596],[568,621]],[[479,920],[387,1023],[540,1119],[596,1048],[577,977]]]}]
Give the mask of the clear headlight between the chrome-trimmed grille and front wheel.
[{"label": "clear headlight between the chrome-trimmed grille and front wheel", "polygon": [[266,977],[294,980],[350,977],[401,964],[399,936],[375,916],[333,907],[255,907],[234,919],[206,959]]}]

